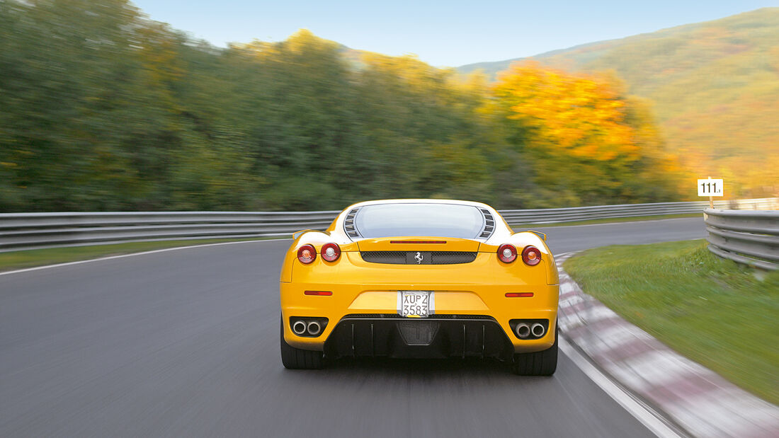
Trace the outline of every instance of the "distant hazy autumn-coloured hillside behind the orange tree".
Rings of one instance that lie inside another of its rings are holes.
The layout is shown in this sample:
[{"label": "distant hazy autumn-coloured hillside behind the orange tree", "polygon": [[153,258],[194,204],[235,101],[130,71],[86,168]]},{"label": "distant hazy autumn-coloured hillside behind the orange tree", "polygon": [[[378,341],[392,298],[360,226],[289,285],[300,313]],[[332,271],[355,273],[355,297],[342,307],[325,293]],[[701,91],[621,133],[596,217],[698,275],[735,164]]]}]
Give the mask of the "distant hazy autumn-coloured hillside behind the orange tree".
[{"label": "distant hazy autumn-coloured hillside behind the orange tree", "polygon": [[[779,190],[779,8],[533,58],[569,71],[615,71],[629,93],[654,101],[668,147],[691,177],[725,177],[733,195]],[[495,75],[518,60],[458,70]]]}]

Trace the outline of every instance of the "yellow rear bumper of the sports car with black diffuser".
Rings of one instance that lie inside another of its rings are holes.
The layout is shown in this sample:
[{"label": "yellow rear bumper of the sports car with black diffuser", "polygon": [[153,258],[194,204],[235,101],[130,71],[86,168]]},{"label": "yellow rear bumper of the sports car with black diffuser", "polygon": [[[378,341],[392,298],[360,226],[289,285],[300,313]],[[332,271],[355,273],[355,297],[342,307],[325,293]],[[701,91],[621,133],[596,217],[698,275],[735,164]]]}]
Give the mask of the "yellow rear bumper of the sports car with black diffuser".
[{"label": "yellow rear bumper of the sports car with black diffuser", "polygon": [[[412,289],[435,293],[434,314],[427,318],[397,316],[397,291]],[[306,290],[332,291],[332,295],[310,296],[305,295]],[[508,292],[531,292],[534,296],[509,298]],[[543,283],[520,286],[280,283],[284,339],[298,349],[324,351],[333,356],[444,357],[462,356],[465,351],[465,356],[504,358],[513,352],[545,350],[555,342],[558,297],[558,285]],[[291,331],[291,317],[325,317],[328,323],[319,336],[298,336]],[[548,320],[548,330],[541,338],[520,339],[514,335],[509,322],[516,319]],[[408,345],[403,342],[398,321],[435,321],[437,335],[429,345]],[[371,330],[373,335],[369,336]],[[486,336],[483,340],[482,333]]]}]

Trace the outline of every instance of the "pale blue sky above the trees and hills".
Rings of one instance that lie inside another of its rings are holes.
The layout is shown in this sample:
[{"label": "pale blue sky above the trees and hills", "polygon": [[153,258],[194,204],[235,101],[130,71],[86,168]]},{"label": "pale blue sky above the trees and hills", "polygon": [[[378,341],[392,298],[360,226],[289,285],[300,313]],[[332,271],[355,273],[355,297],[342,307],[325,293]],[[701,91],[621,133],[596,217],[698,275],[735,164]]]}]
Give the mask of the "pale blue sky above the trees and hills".
[{"label": "pale blue sky above the trees and hills", "polygon": [[218,47],[286,40],[298,29],[348,47],[457,67],[723,18],[779,1],[315,2],[134,0],[150,18]]}]

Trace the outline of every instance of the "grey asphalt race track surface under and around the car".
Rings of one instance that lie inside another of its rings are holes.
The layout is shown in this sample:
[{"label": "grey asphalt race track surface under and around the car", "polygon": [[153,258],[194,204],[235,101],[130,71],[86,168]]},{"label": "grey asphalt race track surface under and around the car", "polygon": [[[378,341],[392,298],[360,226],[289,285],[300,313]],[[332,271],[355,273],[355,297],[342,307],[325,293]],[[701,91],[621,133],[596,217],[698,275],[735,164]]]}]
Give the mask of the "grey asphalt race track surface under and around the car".
[{"label": "grey asphalt race track surface under and around the car", "polygon": [[[704,237],[703,220],[549,227],[559,254]],[[652,436],[565,355],[284,370],[290,240],[0,275],[0,436]]]}]

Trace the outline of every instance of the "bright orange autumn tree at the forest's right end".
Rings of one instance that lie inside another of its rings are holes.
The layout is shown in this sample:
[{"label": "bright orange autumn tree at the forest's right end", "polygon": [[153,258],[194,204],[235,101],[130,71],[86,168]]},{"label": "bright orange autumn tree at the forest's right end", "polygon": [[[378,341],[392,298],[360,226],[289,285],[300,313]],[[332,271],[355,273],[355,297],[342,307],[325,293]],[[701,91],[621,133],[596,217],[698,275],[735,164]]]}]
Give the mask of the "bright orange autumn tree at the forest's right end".
[{"label": "bright orange autumn tree at the forest's right end", "polygon": [[515,145],[530,159],[544,198],[587,205],[673,193],[673,157],[662,151],[647,107],[620,89],[606,75],[576,75],[531,61],[499,76],[495,110],[518,132]]}]

